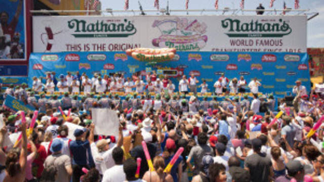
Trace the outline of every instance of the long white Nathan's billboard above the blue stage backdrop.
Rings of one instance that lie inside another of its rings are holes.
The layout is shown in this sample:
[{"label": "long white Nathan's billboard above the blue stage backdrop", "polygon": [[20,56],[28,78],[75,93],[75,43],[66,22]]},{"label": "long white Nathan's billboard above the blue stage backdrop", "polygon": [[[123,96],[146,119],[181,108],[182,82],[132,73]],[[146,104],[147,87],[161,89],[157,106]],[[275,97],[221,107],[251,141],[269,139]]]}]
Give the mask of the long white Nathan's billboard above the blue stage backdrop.
[{"label": "long white Nathan's billboard above the blue stage backdrop", "polygon": [[33,51],[306,52],[306,16],[34,16]]}]

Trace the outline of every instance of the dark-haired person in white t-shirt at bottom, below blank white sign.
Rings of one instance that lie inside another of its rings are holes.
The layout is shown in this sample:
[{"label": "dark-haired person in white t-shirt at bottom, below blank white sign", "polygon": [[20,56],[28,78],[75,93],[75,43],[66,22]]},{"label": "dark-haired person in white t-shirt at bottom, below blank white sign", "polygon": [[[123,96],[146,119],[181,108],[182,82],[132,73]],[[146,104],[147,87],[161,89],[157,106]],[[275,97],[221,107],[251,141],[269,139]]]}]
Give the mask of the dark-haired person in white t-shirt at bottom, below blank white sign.
[{"label": "dark-haired person in white t-shirt at bottom, below blank white sign", "polygon": [[112,150],[112,158],[115,165],[104,171],[102,182],[125,181],[126,175],[123,169],[124,151],[120,147]]}]

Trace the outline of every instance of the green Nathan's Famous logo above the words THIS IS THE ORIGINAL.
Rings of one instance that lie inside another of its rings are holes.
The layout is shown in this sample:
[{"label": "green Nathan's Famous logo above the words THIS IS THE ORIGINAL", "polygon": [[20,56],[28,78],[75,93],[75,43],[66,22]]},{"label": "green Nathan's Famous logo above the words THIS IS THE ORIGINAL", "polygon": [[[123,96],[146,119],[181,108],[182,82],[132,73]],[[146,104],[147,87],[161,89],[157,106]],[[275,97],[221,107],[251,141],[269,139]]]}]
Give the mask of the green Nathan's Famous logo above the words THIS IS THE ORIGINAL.
[{"label": "green Nathan's Famous logo above the words THIS IS THE ORIGINAL", "polygon": [[136,33],[134,24],[127,20],[120,22],[110,22],[97,20],[97,22],[87,22],[87,20],[72,19],[67,22],[67,27],[72,29],[72,35],[76,38],[84,37],[128,37]]}]

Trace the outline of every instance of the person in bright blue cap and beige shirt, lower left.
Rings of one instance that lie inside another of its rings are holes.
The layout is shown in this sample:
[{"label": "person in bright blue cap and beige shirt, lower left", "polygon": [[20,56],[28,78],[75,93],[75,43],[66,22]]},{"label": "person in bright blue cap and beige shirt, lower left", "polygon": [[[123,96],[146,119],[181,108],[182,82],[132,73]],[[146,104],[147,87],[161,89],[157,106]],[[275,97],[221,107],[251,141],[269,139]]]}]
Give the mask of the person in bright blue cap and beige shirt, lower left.
[{"label": "person in bright blue cap and beige shirt, lower left", "polygon": [[44,167],[54,166],[57,169],[55,181],[69,182],[72,175],[72,165],[70,157],[62,154],[63,145],[60,139],[54,139],[52,141],[50,148],[52,155],[46,158]]}]

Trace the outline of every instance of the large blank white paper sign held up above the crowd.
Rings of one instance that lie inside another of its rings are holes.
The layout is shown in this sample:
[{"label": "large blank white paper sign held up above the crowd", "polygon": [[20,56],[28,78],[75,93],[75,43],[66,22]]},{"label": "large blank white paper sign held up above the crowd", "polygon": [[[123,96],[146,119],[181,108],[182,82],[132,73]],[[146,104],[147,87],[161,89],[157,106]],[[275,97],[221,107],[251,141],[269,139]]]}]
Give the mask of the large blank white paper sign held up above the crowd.
[{"label": "large blank white paper sign held up above the crowd", "polygon": [[118,135],[119,120],[116,111],[92,109],[92,122],[95,124],[95,134]]}]

